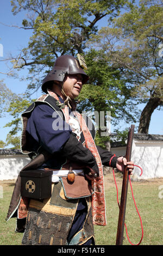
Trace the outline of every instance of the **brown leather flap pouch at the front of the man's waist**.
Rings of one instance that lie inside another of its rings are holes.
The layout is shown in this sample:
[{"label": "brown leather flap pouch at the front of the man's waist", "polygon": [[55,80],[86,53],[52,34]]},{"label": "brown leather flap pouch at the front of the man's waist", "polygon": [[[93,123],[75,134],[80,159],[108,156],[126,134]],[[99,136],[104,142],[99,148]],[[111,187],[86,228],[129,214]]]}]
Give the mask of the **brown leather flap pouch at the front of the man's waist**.
[{"label": "brown leather flap pouch at the front of the man's waist", "polygon": [[60,180],[65,197],[68,199],[90,197],[93,193],[89,181],[83,175],[76,175],[73,182],[68,181],[67,177],[61,177]]}]

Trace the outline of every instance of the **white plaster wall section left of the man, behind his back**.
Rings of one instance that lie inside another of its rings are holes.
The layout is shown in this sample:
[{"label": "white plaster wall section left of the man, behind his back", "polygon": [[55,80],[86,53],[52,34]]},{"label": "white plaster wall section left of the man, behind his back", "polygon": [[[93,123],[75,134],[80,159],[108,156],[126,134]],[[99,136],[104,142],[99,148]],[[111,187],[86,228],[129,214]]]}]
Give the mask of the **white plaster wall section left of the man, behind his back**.
[{"label": "white plaster wall section left of the man, behind his back", "polygon": [[1,156],[0,157],[0,180],[17,179],[20,170],[30,162],[26,155]]}]

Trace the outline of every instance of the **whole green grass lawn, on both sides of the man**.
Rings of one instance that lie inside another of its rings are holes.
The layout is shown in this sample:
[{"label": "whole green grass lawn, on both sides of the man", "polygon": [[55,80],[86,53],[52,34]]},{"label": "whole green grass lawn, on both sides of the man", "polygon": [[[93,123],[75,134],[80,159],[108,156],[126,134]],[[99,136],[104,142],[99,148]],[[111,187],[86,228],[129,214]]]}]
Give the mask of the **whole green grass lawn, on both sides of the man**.
[{"label": "whole green grass lawn, on both sides of the man", "polygon": [[[122,177],[116,174],[116,180],[120,201]],[[3,198],[0,198],[0,245],[21,245],[23,234],[15,233],[16,218],[5,221],[14,182],[1,181],[0,185],[3,187]],[[160,185],[163,185],[163,179],[132,182],[136,205],[143,223],[144,235],[141,245],[163,244],[163,199],[159,198]],[[112,174],[105,175],[105,200],[107,225],[105,227],[95,226],[96,245],[115,245],[119,210]],[[138,243],[141,239],[141,225],[131,197],[130,186],[128,187],[125,222],[130,241],[134,244]],[[125,228],[123,245],[130,245]]]}]

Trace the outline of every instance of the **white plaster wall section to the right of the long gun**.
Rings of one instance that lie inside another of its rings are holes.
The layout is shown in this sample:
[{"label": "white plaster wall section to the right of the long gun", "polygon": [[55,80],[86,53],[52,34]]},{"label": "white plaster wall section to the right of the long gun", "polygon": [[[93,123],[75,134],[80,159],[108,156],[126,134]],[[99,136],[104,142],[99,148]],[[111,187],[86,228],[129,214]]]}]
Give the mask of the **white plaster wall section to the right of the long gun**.
[{"label": "white plaster wall section to the right of the long gun", "polygon": [[163,177],[163,142],[133,140],[131,160],[142,168],[134,168],[132,179],[153,179]]}]

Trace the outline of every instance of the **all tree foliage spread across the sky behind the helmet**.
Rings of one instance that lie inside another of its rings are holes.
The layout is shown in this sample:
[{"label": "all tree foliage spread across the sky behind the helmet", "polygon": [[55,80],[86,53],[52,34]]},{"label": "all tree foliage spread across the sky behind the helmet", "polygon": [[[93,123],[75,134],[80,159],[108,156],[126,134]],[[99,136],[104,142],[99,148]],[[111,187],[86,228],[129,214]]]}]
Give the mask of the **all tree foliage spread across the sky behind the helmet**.
[{"label": "all tree foliage spread across the sky behind the helmet", "polygon": [[[27,100],[19,96],[8,105],[15,119],[7,124],[12,135],[20,129],[18,115],[31,103],[29,94],[40,87],[61,54],[81,53],[86,59],[90,80],[79,96],[80,112],[109,111],[115,125],[122,118],[136,122],[140,118],[137,103],[148,102],[149,97],[162,99],[159,0],[142,0],[140,6],[126,0],[12,0],[11,6],[14,15],[27,14],[22,26],[33,32],[28,45],[11,59],[15,70],[27,66],[29,71]],[[98,31],[104,17],[109,26]]]}]

